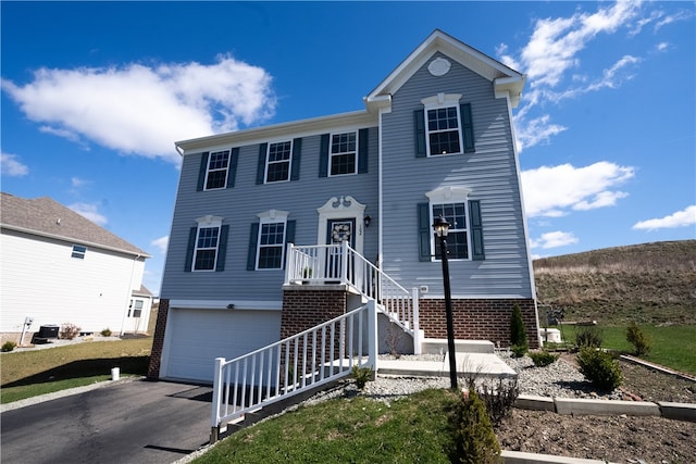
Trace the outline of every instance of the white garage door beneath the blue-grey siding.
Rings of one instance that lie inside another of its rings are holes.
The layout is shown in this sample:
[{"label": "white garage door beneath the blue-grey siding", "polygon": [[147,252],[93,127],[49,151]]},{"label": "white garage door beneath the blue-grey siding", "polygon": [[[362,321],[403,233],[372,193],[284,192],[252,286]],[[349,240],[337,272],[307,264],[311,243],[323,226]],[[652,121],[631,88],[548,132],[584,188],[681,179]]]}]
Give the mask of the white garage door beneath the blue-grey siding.
[{"label": "white garage door beneath the blue-grey siding", "polygon": [[160,375],[212,381],[215,358],[234,358],[278,341],[279,311],[177,310],[167,316]]}]

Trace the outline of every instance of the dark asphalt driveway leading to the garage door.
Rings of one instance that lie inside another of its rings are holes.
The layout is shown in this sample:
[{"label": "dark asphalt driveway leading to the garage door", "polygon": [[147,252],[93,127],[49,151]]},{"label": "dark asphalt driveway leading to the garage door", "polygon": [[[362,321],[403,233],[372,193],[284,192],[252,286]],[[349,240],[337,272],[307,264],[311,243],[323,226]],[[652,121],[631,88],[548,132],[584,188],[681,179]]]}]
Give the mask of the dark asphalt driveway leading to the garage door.
[{"label": "dark asphalt driveway leading to the garage door", "polygon": [[172,463],[208,443],[210,387],[114,383],[2,413],[3,463]]}]

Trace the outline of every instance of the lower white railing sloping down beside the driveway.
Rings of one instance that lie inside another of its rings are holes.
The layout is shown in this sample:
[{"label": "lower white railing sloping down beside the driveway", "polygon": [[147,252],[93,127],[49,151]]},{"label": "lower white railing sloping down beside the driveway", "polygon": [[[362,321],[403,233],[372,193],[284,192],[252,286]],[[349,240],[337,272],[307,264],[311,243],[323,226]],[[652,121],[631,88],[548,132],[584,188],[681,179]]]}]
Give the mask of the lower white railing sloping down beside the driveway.
[{"label": "lower white railing sloping down beside the driveway", "polygon": [[377,371],[374,301],[251,353],[215,359],[211,443],[226,425],[258,410],[346,377],[352,366]]}]

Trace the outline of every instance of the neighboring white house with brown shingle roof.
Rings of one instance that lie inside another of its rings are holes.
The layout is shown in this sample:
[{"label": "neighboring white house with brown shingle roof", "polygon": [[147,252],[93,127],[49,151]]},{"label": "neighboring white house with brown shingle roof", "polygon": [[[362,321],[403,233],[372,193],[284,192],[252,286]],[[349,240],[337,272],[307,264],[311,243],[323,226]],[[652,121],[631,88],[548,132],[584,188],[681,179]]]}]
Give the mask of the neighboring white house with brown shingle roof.
[{"label": "neighboring white house with brown shingle roof", "polygon": [[[41,326],[83,333],[147,329],[152,294],[148,253],[48,197],[1,193],[0,334],[24,341]],[[32,321],[25,327],[25,322]]]}]

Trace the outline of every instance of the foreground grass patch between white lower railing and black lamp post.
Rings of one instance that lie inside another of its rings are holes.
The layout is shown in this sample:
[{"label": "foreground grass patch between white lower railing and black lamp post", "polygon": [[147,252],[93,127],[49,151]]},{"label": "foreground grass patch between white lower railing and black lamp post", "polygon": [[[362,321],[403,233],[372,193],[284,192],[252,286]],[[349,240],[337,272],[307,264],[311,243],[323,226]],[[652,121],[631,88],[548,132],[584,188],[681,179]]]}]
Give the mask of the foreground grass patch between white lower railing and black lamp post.
[{"label": "foreground grass patch between white lower railing and black lamp post", "polygon": [[450,463],[453,401],[448,390],[425,390],[390,406],[361,397],[300,406],[234,434],[194,462]]}]

